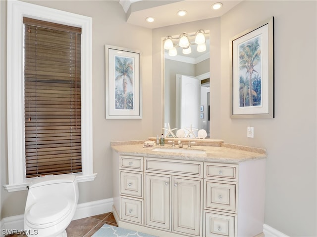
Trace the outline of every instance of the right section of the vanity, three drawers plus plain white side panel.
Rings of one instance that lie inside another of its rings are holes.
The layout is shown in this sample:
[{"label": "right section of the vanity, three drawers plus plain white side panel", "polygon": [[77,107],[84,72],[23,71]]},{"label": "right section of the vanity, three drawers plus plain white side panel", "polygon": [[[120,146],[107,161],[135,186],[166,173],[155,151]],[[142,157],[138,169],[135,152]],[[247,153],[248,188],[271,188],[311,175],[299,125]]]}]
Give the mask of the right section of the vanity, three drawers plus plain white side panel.
[{"label": "right section of the vanity, three drawers plus plain white side panel", "polygon": [[264,176],[264,159],[204,163],[205,237],[253,237],[262,233]]}]

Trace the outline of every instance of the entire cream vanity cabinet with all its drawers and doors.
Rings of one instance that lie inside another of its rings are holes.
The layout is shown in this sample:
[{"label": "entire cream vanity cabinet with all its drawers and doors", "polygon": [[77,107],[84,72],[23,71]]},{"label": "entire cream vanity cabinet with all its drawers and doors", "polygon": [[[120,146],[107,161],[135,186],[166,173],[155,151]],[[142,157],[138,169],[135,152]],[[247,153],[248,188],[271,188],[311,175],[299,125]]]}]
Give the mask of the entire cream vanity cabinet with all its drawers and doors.
[{"label": "entire cream vanity cabinet with all its drawers and doors", "polygon": [[263,232],[261,154],[220,148],[233,158],[169,158],[142,147],[139,156],[130,156],[122,147],[127,155],[114,152],[112,160],[113,215],[120,227],[159,237],[255,237]]}]

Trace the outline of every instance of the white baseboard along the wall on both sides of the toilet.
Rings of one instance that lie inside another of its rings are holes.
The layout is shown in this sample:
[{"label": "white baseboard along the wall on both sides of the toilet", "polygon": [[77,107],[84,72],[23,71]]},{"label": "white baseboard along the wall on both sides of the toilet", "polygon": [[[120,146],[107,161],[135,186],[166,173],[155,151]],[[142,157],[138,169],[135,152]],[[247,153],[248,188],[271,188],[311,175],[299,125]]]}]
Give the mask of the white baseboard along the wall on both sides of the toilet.
[{"label": "white baseboard along the wall on both sides of the toilet", "polygon": [[[77,205],[77,209],[73,220],[86,218],[89,216],[95,216],[112,211],[113,198],[107,198],[97,201],[90,201],[85,203],[80,203]],[[0,236],[5,236],[6,230],[23,230],[24,214],[9,216],[3,218],[1,223],[1,233]]]}]

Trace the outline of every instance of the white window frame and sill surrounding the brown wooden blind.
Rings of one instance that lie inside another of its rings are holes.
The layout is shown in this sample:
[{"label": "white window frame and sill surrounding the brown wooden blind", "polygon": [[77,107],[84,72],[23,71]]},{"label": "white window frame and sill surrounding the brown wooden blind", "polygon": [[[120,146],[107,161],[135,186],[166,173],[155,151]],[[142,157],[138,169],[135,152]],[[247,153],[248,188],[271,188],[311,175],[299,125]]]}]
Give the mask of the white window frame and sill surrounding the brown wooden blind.
[{"label": "white window frame and sill surrounding the brown wooden blind", "polygon": [[[28,115],[24,114],[24,112],[28,112],[28,110],[32,111],[34,108],[34,104],[30,107],[28,105],[29,99],[34,97],[34,94],[30,91],[30,98],[28,99],[28,92],[31,88],[31,84],[33,86],[38,87],[39,81],[38,77],[36,82],[31,81],[28,79],[29,75],[31,76],[32,73],[26,71],[27,77],[26,82],[24,81],[24,36],[28,37],[27,34],[24,35],[24,26],[23,18],[31,18],[40,21],[47,21],[54,24],[66,25],[70,27],[80,28],[81,29],[81,36],[77,38],[80,41],[80,62],[78,65],[77,61],[77,70],[80,67],[80,78],[77,76],[77,90],[72,87],[72,91],[76,92],[77,95],[73,95],[74,97],[79,96],[80,94],[80,102],[75,107],[72,107],[72,110],[80,110],[80,114],[77,114],[77,118],[80,117],[80,122],[77,121],[77,127],[80,127],[80,137],[81,137],[81,170],[80,168],[77,169],[76,160],[73,160],[74,171],[67,171],[67,172],[75,172],[77,176],[78,182],[85,182],[85,181],[92,181],[96,177],[96,173],[93,173],[93,145],[92,145],[92,18],[74,14],[70,12],[65,12],[61,10],[56,10],[49,7],[43,7],[37,4],[31,4],[24,1],[8,1],[7,2],[7,165],[8,165],[8,183],[4,185],[4,188],[8,192],[12,191],[19,191],[25,190],[26,187],[29,185],[29,182],[37,179],[38,174],[27,174],[27,166],[29,166],[28,161],[25,154],[25,149],[28,149],[29,144],[26,142],[25,138],[27,137],[25,134],[25,130],[28,130],[29,127],[25,124],[28,122],[29,118]],[[28,31],[28,28],[26,29]],[[32,31],[32,30],[31,30]],[[77,33],[76,33],[77,34]],[[31,36],[30,36],[31,38]],[[79,39],[80,38],[80,39]],[[77,41],[77,43],[79,43]],[[27,51],[25,51],[27,54]],[[78,52],[78,50],[77,50]],[[40,53],[40,51],[38,51]],[[43,52],[41,52],[43,53]],[[31,52],[30,52],[31,54]],[[52,56],[52,55],[51,55]],[[37,63],[43,63],[45,60],[37,61]],[[39,64],[37,65],[39,66]],[[26,69],[31,69],[32,65],[25,65]],[[72,67],[72,74],[73,70],[76,71],[76,67]],[[34,67],[33,67],[34,69]],[[32,69],[32,70],[33,70]],[[60,74],[56,72],[56,67],[52,69],[53,74]],[[61,67],[57,67],[58,70]],[[41,75],[41,71],[36,70],[36,74]],[[34,72],[33,72],[34,74]],[[42,76],[42,75],[41,75]],[[34,80],[34,79],[33,79]],[[76,79],[75,79],[76,80]],[[28,83],[30,81],[30,83]],[[31,83],[32,82],[32,83]],[[34,82],[36,85],[34,85]],[[68,81],[69,82],[69,81]],[[30,85],[30,88],[29,88]],[[72,86],[74,82],[72,82]],[[43,86],[43,85],[41,85]],[[42,93],[43,96],[47,96],[47,91],[38,90],[36,93],[37,96],[39,93]],[[57,86],[58,87],[58,86]],[[39,88],[39,87],[38,87]],[[80,92],[79,89],[80,88]],[[24,89],[26,91],[24,91]],[[43,88],[42,88],[43,89]],[[73,90],[74,89],[74,90]],[[42,97],[42,96],[41,96]],[[65,99],[66,100],[66,99]],[[26,103],[25,103],[26,101]],[[62,99],[64,101],[64,99]],[[76,99],[74,99],[76,101]],[[78,98],[77,98],[78,101]],[[31,102],[31,100],[30,100]],[[72,105],[73,106],[73,105]],[[63,108],[60,106],[60,111],[63,111]],[[39,110],[39,116],[43,113]],[[32,112],[34,114],[34,111]],[[33,115],[34,116],[34,115]],[[57,115],[56,115],[57,116]],[[26,118],[26,120],[25,120]],[[33,121],[36,122],[32,118],[30,119],[31,123]],[[76,120],[76,119],[75,119]],[[76,121],[72,121],[71,123],[75,123]],[[36,124],[36,126],[39,124]],[[55,126],[60,126],[60,124],[55,123]],[[42,129],[43,130],[43,129]],[[38,131],[38,136],[41,135],[42,130]],[[44,129],[46,130],[46,129]],[[54,137],[54,133],[51,133],[50,137]],[[66,135],[65,135],[66,137]],[[74,138],[74,137],[72,137]],[[74,140],[72,140],[73,142]],[[40,149],[40,144],[34,144],[33,149]],[[38,146],[36,148],[36,146]],[[50,155],[50,149],[56,149],[58,145],[52,145],[51,148],[47,149],[47,154]],[[54,153],[59,153],[56,150]],[[55,159],[55,164],[57,164],[57,159]],[[41,163],[43,160],[37,160],[38,164]],[[60,161],[58,165],[63,165],[64,160]],[[69,162],[69,161],[67,161]],[[57,166],[58,166],[57,165]],[[55,169],[55,168],[54,168]],[[78,172],[76,172],[78,171]],[[32,171],[33,172],[33,171]],[[60,170],[58,170],[60,172]],[[62,171],[64,172],[64,171]],[[28,178],[27,178],[28,177]]]}]

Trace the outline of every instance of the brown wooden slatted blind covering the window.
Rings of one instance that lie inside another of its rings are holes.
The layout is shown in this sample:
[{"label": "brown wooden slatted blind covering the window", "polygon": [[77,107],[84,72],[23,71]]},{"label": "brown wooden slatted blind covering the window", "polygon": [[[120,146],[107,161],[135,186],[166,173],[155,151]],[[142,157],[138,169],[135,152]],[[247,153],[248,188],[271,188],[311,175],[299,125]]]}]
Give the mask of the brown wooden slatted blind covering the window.
[{"label": "brown wooden slatted blind covering the window", "polygon": [[81,28],[23,24],[26,178],[81,172]]}]

